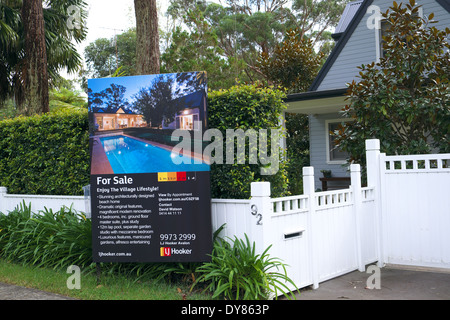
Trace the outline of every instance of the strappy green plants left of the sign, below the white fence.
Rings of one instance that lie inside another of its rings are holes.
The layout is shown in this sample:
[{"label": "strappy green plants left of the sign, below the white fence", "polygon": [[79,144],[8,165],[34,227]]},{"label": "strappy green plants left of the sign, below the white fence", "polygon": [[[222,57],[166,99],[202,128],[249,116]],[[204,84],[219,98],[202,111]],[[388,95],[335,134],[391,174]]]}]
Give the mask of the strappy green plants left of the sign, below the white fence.
[{"label": "strappy green plants left of the sign, below the white fence", "polygon": [[91,228],[91,221],[71,208],[33,214],[23,204],[0,213],[0,256],[42,267],[86,267],[92,263]]}]

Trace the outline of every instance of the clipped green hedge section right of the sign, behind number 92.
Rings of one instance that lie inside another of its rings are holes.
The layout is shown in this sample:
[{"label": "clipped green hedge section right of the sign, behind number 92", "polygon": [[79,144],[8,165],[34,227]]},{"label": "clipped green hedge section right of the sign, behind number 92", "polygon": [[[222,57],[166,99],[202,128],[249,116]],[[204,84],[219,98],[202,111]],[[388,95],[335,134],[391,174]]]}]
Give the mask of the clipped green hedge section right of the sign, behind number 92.
[{"label": "clipped green hedge section right of the sign, behind number 92", "polygon": [[[257,84],[239,85],[208,95],[208,126],[219,129],[225,139],[226,130],[281,129],[280,116],[285,108],[280,90],[262,88]],[[269,139],[269,138],[268,138]],[[269,139],[269,143],[270,143]],[[225,149],[225,148],[224,148]],[[272,176],[261,175],[261,163],[249,164],[249,143],[246,143],[245,164],[213,164],[211,194],[214,198],[248,199],[250,183],[269,181],[273,196],[287,195],[286,163],[280,159],[280,169]],[[268,147],[270,150],[270,147]],[[236,153],[235,153],[236,154]],[[280,152],[281,155],[281,152]],[[259,159],[258,159],[259,160]]]}]

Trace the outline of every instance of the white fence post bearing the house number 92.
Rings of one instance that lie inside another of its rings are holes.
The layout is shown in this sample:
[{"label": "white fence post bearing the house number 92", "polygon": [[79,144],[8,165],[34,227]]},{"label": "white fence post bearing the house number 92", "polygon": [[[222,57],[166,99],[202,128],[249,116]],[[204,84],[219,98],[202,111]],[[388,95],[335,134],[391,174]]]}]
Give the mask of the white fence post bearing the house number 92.
[{"label": "white fence post bearing the house number 92", "polygon": [[268,227],[273,208],[270,202],[270,182],[252,182],[250,213],[255,217],[251,225],[250,241],[255,242],[256,253],[261,254],[270,245]]}]

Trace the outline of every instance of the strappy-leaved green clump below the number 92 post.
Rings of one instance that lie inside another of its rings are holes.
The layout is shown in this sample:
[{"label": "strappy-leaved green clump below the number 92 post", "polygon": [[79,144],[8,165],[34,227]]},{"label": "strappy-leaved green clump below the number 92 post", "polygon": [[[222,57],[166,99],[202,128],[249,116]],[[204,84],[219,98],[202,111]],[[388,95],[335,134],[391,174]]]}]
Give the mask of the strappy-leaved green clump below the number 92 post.
[{"label": "strappy-leaved green clump below the number 92 post", "polygon": [[245,237],[245,242],[235,238],[232,244],[221,239],[215,241],[211,262],[196,270],[200,273],[196,284],[205,282],[213,298],[227,300],[267,300],[279,294],[295,298],[287,287],[295,284],[287,276],[285,265],[269,256],[270,247],[256,254],[255,243],[251,245]]}]

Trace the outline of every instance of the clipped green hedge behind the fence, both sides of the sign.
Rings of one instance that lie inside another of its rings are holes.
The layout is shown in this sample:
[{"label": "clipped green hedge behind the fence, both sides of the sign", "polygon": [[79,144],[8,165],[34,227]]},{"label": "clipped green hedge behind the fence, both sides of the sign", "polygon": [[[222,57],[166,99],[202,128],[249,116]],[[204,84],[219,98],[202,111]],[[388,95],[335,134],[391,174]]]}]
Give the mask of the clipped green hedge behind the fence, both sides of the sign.
[{"label": "clipped green hedge behind the fence, both sides of the sign", "polygon": [[[224,138],[226,129],[279,128],[284,97],[258,85],[210,92],[209,127],[221,130]],[[87,111],[74,109],[0,121],[0,186],[16,194],[81,195],[89,184],[88,130]],[[213,165],[212,196],[249,198],[253,181],[271,182],[273,196],[288,194],[285,162],[272,176],[261,175],[260,164],[248,163]]]}]

